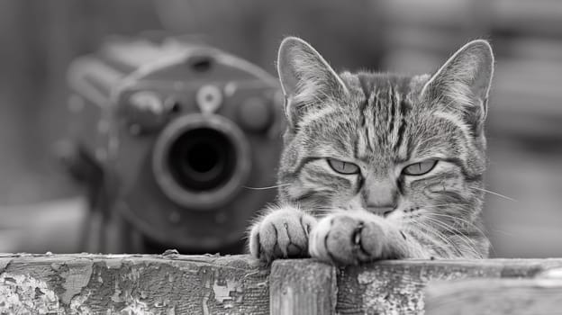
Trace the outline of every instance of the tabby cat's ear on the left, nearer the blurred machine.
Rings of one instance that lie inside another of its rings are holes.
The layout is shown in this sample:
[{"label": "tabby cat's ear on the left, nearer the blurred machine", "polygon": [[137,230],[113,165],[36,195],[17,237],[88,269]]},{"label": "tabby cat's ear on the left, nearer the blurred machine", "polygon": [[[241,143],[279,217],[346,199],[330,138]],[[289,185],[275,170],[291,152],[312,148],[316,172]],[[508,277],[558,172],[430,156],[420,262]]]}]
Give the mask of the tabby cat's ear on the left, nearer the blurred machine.
[{"label": "tabby cat's ear on the left, nearer the blurred machine", "polygon": [[277,72],[285,94],[289,126],[296,127],[306,111],[322,106],[329,98],[349,94],[340,76],[320,53],[304,40],[287,37],[281,42]]}]

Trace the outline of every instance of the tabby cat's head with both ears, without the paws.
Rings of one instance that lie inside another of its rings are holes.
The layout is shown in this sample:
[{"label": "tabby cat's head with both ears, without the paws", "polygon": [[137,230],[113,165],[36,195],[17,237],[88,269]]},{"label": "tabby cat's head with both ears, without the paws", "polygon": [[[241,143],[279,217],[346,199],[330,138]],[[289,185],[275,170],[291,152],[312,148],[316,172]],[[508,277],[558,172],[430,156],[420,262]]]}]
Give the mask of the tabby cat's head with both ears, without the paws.
[{"label": "tabby cat's head with both ears, without the paws", "polygon": [[338,75],[297,38],[282,42],[277,67],[288,122],[282,201],[312,211],[361,208],[404,224],[423,213],[476,220],[494,70],[485,40],[431,76]]}]

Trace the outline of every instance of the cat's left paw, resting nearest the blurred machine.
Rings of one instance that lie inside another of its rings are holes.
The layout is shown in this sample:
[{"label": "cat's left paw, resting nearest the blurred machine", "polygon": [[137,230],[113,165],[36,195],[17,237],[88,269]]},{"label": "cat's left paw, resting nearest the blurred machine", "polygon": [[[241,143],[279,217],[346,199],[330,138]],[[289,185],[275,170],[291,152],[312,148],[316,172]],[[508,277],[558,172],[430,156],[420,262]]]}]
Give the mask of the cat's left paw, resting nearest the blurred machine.
[{"label": "cat's left paw, resting nearest the blurred machine", "polygon": [[304,211],[287,207],[271,211],[249,233],[252,257],[270,263],[277,258],[308,256],[308,237],[316,219]]}]

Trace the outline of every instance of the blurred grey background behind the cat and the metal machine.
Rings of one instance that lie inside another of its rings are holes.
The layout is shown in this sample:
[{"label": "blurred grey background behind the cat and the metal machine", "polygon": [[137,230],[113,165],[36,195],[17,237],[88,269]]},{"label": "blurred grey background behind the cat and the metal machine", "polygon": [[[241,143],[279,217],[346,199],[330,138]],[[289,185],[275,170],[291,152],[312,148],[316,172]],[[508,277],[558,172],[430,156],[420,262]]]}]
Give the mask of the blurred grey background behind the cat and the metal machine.
[{"label": "blurred grey background behind the cat and the metal machine", "polygon": [[54,148],[68,136],[67,71],[107,36],[166,31],[275,75],[280,40],[337,70],[429,73],[492,41],[485,221],[494,257],[562,256],[562,2],[557,0],[0,1],[0,252],[77,252],[84,192]]}]

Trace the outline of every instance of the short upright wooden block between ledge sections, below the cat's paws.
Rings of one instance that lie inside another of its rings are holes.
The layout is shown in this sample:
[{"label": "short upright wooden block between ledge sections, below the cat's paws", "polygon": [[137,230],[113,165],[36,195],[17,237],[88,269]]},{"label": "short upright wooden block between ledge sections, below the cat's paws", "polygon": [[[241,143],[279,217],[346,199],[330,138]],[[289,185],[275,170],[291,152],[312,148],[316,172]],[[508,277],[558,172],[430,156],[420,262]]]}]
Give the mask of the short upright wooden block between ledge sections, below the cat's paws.
[{"label": "short upright wooden block between ledge sections, below the cat's paws", "polygon": [[308,259],[277,260],[269,279],[271,315],[330,315],[336,311],[336,268]]}]

